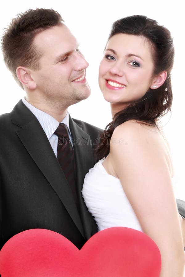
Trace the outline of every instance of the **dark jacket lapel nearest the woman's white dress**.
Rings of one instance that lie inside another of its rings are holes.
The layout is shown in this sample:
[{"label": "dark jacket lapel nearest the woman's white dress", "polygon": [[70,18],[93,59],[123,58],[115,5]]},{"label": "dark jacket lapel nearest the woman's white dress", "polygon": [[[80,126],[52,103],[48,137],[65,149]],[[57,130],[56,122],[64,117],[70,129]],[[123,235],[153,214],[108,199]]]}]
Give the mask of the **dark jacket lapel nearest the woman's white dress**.
[{"label": "dark jacket lapel nearest the woman's white dress", "polygon": [[73,148],[76,161],[76,180],[77,191],[79,194],[79,203],[81,219],[84,226],[86,238],[89,239],[92,234],[92,217],[84,203],[82,197],[82,185],[85,174],[93,167],[92,142],[90,136],[82,130],[82,126],[77,125],[69,116],[69,127],[73,138]]}]

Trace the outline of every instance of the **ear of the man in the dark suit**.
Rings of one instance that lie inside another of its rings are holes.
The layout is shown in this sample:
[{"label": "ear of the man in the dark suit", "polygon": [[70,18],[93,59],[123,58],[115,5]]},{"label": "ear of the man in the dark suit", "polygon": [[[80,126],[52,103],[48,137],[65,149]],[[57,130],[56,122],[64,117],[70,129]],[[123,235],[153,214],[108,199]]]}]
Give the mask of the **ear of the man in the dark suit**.
[{"label": "ear of the man in the dark suit", "polygon": [[18,66],[16,69],[17,78],[23,84],[23,86],[27,86],[30,90],[35,90],[37,84],[31,76],[31,70],[24,66]]}]

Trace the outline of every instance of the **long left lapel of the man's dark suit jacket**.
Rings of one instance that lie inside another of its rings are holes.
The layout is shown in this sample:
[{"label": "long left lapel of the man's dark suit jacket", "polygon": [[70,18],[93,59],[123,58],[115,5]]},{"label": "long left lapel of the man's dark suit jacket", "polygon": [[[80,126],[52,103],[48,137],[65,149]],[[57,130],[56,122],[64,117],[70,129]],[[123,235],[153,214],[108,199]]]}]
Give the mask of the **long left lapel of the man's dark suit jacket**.
[{"label": "long left lapel of the man's dark suit jacket", "polygon": [[17,130],[19,139],[51,187],[60,197],[72,220],[84,236],[83,226],[72,196],[71,188],[66,182],[64,173],[60,168],[58,160],[39,121],[22,103],[22,100],[19,101],[11,112],[11,118],[14,124],[21,127]]}]

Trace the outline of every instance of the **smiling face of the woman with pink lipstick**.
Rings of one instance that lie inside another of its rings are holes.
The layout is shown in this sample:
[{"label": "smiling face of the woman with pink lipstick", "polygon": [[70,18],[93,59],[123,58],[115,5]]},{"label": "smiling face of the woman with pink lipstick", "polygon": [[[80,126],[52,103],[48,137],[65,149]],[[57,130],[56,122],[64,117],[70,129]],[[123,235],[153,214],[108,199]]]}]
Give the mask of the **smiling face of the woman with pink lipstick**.
[{"label": "smiling face of the woman with pink lipstick", "polygon": [[147,40],[116,34],[107,43],[99,67],[99,86],[106,101],[125,108],[152,85],[154,65]]}]

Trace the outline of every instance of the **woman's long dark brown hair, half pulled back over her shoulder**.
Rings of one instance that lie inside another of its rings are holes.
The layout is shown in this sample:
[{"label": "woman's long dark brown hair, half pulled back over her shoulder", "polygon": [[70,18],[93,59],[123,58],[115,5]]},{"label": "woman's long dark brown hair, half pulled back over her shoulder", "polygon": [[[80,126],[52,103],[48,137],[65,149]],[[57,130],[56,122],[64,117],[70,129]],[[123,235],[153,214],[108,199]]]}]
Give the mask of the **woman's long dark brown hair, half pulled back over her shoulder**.
[{"label": "woman's long dark brown hair, half pulled back over her shoulder", "polygon": [[100,158],[109,154],[110,139],[117,126],[130,119],[156,125],[155,119],[171,111],[173,98],[170,72],[174,62],[174,46],[170,31],[146,16],[133,15],[115,21],[108,40],[115,34],[132,34],[146,38],[154,62],[153,76],[167,71],[167,78],[158,89],[149,88],[139,101],[114,115],[113,121],[106,126],[97,148]]}]

